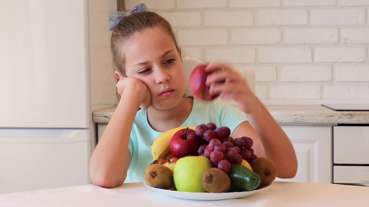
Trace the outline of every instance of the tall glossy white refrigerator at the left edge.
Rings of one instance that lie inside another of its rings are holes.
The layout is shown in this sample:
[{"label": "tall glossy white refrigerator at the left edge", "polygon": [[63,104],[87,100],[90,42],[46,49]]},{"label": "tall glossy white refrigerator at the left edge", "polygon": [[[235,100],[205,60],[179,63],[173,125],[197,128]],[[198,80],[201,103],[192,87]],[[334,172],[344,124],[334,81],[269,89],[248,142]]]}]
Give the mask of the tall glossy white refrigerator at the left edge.
[{"label": "tall glossy white refrigerator at the left edge", "polygon": [[91,184],[88,1],[0,2],[0,194]]}]

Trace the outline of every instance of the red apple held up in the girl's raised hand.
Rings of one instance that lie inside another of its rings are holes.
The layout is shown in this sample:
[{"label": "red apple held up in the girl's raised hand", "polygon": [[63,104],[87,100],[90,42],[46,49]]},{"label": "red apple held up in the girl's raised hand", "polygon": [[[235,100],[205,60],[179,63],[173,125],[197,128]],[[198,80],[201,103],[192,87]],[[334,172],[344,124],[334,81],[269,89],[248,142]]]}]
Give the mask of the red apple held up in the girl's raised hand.
[{"label": "red apple held up in the girl's raised hand", "polygon": [[210,87],[208,87],[205,83],[206,78],[210,73],[205,71],[206,66],[206,64],[200,64],[193,69],[189,79],[189,86],[192,94],[195,97],[210,101],[214,98],[217,98],[219,95],[209,94]]}]

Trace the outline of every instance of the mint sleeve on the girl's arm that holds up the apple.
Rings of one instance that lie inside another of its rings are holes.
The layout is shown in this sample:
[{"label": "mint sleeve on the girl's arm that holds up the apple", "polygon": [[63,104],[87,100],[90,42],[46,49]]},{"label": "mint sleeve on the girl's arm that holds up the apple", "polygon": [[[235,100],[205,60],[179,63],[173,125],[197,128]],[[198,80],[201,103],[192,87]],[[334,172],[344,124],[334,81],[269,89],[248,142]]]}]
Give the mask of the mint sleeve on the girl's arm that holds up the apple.
[{"label": "mint sleeve on the girl's arm that holds up the apple", "polygon": [[221,126],[227,126],[231,130],[231,134],[239,124],[248,121],[246,115],[242,113],[236,106],[231,105],[218,98],[217,100],[218,120]]}]

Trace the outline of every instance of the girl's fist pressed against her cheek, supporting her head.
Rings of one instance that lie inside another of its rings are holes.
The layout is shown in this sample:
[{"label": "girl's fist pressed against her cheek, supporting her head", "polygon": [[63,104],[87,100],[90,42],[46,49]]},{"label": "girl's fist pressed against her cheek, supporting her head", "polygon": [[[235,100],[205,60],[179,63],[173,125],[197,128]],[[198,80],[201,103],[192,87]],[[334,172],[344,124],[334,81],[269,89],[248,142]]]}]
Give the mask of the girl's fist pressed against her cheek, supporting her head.
[{"label": "girl's fist pressed against her cheek, supporting her head", "polygon": [[127,98],[123,98],[123,92],[125,90],[133,92],[133,98],[137,98],[139,102],[139,108],[146,110],[151,105],[151,93],[147,86],[137,78],[123,77],[117,83],[118,93],[121,96],[121,101],[130,101]]}]

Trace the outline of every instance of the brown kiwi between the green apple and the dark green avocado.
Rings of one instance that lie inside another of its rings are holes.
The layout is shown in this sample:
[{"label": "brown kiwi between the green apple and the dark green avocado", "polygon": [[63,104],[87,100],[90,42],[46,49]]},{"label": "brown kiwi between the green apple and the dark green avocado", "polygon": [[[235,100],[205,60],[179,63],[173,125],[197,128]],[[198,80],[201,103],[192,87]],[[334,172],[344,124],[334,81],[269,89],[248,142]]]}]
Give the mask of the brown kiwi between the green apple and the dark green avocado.
[{"label": "brown kiwi between the green apple and the dark green avocado", "polygon": [[224,193],[231,187],[227,173],[218,168],[207,169],[201,178],[204,189],[209,193]]}]

